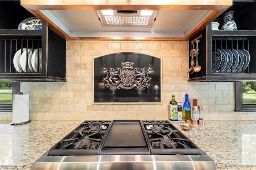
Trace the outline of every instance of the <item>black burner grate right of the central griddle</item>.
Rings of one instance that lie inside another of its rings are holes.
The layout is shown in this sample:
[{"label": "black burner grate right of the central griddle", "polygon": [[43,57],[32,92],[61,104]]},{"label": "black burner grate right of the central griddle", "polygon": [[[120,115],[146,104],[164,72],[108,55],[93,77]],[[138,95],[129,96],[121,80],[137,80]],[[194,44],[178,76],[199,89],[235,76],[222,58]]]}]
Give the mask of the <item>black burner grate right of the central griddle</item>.
[{"label": "black burner grate right of the central griddle", "polygon": [[170,121],[142,121],[151,154],[201,154]]}]

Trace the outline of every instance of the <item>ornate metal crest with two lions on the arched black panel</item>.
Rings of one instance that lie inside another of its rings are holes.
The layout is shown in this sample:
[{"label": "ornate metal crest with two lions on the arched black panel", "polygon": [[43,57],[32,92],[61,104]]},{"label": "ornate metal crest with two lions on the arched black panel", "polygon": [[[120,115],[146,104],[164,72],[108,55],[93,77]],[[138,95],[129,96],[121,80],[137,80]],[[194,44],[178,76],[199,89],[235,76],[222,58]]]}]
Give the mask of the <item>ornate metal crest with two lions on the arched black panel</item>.
[{"label": "ornate metal crest with two lions on the arched black panel", "polygon": [[106,70],[105,87],[110,89],[146,89],[150,86],[149,70],[146,68],[133,68],[134,63],[129,61],[121,63],[122,68],[108,68]]}]

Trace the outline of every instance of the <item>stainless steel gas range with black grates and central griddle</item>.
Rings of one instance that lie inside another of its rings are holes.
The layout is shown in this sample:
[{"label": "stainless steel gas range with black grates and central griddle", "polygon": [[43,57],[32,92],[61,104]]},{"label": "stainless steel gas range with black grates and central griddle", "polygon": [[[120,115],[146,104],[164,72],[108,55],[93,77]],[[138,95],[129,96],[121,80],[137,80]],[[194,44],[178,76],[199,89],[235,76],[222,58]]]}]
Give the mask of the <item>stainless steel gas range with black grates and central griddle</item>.
[{"label": "stainless steel gas range with black grates and central griddle", "polygon": [[32,170],[46,165],[51,170],[216,169],[216,162],[169,120],[84,121],[38,158]]}]

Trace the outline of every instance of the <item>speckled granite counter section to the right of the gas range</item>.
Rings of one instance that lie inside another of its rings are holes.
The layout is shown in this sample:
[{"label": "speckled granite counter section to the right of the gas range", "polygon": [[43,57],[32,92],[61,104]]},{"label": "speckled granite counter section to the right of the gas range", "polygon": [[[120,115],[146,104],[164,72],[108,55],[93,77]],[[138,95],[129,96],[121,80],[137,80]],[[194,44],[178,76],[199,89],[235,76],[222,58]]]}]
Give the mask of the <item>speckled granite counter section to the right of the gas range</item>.
[{"label": "speckled granite counter section to the right of the gas range", "polygon": [[[182,122],[183,123],[183,122]],[[180,124],[174,123],[180,128]],[[205,121],[181,131],[223,170],[256,170],[256,121]]]}]

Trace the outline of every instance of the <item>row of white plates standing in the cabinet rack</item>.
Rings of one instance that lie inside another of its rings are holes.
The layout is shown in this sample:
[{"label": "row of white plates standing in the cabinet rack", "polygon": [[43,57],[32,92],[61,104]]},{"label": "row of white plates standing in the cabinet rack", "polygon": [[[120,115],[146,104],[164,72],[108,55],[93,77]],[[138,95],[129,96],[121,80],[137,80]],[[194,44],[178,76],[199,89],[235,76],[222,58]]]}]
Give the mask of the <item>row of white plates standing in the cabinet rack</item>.
[{"label": "row of white plates standing in the cabinet rack", "polygon": [[[39,69],[38,69],[39,56]],[[14,68],[17,72],[41,72],[42,49],[19,49],[13,57]],[[27,68],[28,65],[28,68]]]}]

